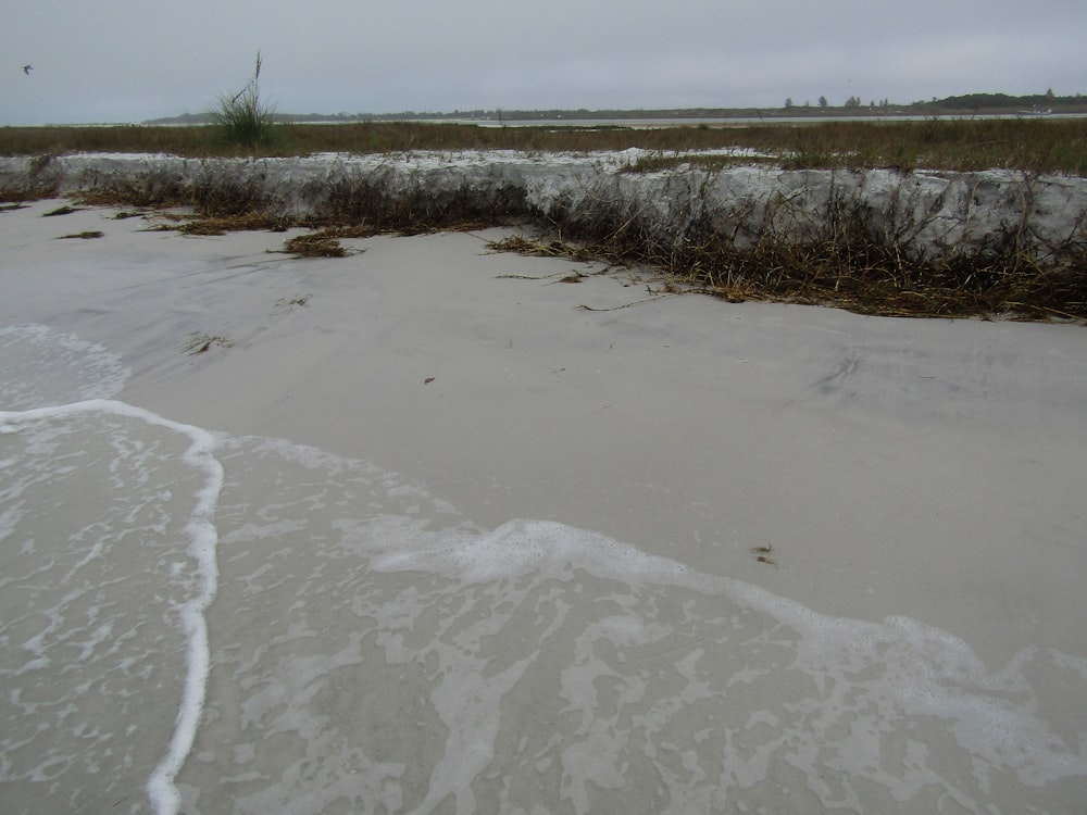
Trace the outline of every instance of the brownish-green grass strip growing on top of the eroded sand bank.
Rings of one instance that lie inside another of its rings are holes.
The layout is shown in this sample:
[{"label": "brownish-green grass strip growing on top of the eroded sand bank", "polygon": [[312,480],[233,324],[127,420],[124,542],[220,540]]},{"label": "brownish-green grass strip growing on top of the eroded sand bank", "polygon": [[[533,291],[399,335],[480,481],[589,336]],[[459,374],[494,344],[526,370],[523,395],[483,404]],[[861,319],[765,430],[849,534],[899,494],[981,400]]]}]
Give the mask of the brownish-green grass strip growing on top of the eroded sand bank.
[{"label": "brownish-green grass strip growing on top of the eroded sand bank", "polygon": [[[255,80],[254,76],[254,80]],[[250,87],[250,86],[247,86]],[[230,100],[225,100],[224,104]],[[480,127],[373,122],[271,126],[260,103],[242,96],[241,134],[223,127],[4,127],[0,154],[172,153],[207,158],[396,153],[411,150],[573,151],[641,148],[662,159],[680,152],[745,149],[792,168],[895,168],[955,172],[994,167],[1087,176],[1087,121],[1007,117],[924,122],[847,121],[738,127]],[[246,106],[248,105],[248,106]],[[255,105],[255,109],[253,108]],[[225,120],[227,112],[221,114]],[[248,116],[248,118],[247,118]],[[263,116],[263,118],[262,118]],[[255,128],[246,135],[247,127]],[[254,143],[255,142],[255,143]],[[720,161],[713,159],[712,161]]]}]

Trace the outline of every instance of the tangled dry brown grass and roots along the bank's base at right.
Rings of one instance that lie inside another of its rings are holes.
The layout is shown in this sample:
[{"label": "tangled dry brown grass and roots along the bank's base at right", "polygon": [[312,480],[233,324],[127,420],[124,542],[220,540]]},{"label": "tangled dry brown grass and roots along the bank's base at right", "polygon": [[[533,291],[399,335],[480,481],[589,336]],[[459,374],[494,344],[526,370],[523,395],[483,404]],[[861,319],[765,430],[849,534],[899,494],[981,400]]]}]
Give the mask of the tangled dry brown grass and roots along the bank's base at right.
[{"label": "tangled dry brown grass and roots along the bank's base at right", "polygon": [[[577,239],[579,255],[662,268],[688,287],[730,301],[829,304],[919,317],[1002,313],[1087,319],[1087,233],[1082,228],[1062,243],[1038,248],[1024,217],[969,253],[929,258],[910,248],[909,236],[923,224],[905,215],[897,225],[879,225],[862,202],[841,198],[814,217],[800,209],[778,200],[753,224],[749,205],[703,211],[676,233],[662,229],[629,201],[587,197],[554,208],[550,227],[554,240],[561,235]],[[545,237],[533,246],[554,242]]]}]

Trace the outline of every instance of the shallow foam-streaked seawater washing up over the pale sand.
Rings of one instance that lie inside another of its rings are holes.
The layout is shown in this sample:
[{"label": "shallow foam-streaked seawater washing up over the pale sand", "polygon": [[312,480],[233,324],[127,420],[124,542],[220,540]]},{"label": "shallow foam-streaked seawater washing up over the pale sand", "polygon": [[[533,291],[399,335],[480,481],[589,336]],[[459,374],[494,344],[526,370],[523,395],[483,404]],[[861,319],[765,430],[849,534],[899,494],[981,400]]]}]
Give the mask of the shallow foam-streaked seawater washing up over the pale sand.
[{"label": "shallow foam-streaked seawater washing up over the pale sand", "polygon": [[[0,327],[0,799],[39,812],[1073,812],[1087,661],[999,669],[113,401]],[[1040,803],[1039,803],[1040,802]]]}]

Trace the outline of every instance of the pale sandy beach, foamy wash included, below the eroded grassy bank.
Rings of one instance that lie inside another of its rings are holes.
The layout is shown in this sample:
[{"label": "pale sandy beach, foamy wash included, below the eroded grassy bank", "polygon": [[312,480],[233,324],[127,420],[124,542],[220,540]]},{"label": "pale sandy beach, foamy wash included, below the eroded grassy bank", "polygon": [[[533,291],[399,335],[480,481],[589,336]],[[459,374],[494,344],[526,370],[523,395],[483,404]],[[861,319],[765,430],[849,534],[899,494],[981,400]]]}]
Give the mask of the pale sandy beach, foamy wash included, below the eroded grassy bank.
[{"label": "pale sandy beach, foamy wash included, below the eroded grassy bank", "polygon": [[1082,326],[62,203],[0,213],[4,812],[1082,812]]}]

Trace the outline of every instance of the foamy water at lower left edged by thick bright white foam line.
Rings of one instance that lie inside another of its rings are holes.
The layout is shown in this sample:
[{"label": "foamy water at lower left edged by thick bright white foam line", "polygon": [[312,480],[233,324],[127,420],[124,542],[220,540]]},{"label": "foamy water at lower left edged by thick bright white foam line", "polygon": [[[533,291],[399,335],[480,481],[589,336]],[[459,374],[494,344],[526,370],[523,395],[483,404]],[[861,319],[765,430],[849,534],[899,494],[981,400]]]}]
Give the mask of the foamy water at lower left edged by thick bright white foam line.
[{"label": "foamy water at lower left edged by thick bright white foam line", "polygon": [[[149,435],[143,426],[155,432]],[[118,724],[115,712],[84,715],[85,707],[93,707],[87,695],[110,686],[117,667],[137,681],[155,674],[161,668],[158,652],[176,649],[170,628],[179,627],[185,656],[177,666],[183,676],[177,715],[164,740],[165,755],[147,780],[155,811],[175,813],[179,797],[174,777],[196,734],[210,663],[204,613],[217,585],[214,513],[223,485],[215,440],[199,428],[105,400],[0,413],[0,436],[17,437],[9,439],[11,446],[21,443],[0,492],[7,504],[2,514],[13,518],[0,536],[3,588],[25,601],[4,616],[10,650],[0,675],[13,714],[4,718],[20,722],[9,734],[20,734],[14,743],[25,748],[54,728],[64,729],[75,716],[77,724],[68,730],[73,744],[88,731],[113,742],[118,734],[107,730]],[[71,460],[79,464],[68,466]],[[34,556],[36,547],[25,544],[39,536],[43,553]],[[138,581],[145,569],[154,576]],[[147,594],[142,602],[133,597],[140,591]],[[155,629],[154,617],[176,622]],[[141,630],[148,626],[151,635]],[[35,634],[20,641],[22,631]],[[58,678],[65,674],[74,678]],[[135,690],[123,686],[117,695],[128,698]],[[28,702],[32,695],[39,701]],[[155,693],[143,702],[171,704],[168,695]],[[55,718],[49,722],[39,709],[58,711]],[[139,706],[127,715],[137,727],[143,718]],[[46,736],[51,747],[38,754],[49,757],[23,769],[20,765],[26,758],[33,764],[34,754],[23,750],[16,761],[9,753],[13,740],[5,739],[3,780],[98,772],[110,764],[103,756],[117,754],[127,767],[139,766],[147,758],[145,750],[161,749],[151,740],[133,742],[123,752],[111,747],[88,755],[78,750],[61,758],[54,738]]]}]

